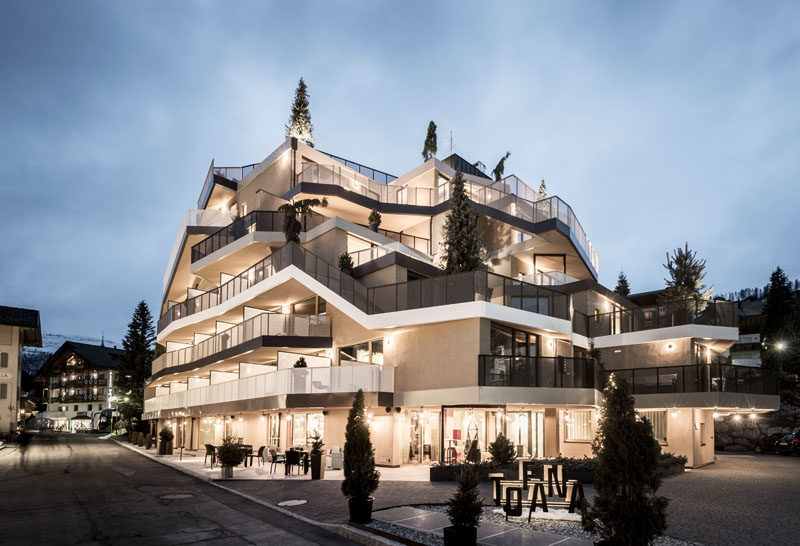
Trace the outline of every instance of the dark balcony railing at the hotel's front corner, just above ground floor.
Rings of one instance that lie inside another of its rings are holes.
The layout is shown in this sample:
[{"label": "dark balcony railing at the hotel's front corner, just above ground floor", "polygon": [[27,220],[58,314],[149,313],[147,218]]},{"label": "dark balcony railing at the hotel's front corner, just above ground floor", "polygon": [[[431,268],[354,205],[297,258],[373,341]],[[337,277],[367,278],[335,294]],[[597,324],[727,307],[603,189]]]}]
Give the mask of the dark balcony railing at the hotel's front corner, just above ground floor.
[{"label": "dark balcony railing at the hotel's front corner, just above ground floor", "polygon": [[562,356],[478,356],[481,387],[594,389],[601,376],[594,361]]}]

